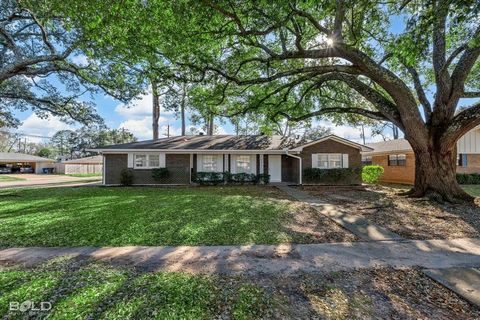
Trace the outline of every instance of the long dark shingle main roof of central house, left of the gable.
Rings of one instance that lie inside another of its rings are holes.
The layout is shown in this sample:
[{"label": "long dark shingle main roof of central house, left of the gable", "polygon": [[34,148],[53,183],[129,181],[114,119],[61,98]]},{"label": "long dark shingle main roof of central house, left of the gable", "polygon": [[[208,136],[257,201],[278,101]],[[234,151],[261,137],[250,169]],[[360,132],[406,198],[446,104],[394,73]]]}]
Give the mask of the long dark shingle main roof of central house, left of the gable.
[{"label": "long dark shingle main roof of central house, left of the gable", "polygon": [[116,144],[98,149],[281,150],[283,147],[283,140],[280,136],[196,135]]}]

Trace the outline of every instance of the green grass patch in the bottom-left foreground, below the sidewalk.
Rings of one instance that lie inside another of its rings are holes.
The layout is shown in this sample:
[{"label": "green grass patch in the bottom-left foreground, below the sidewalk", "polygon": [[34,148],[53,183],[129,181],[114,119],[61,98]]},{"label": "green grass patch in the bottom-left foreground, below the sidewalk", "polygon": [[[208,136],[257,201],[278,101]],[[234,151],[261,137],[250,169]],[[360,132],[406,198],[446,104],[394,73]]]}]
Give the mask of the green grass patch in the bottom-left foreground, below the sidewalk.
[{"label": "green grass patch in the bottom-left foreground, below the sidewalk", "polygon": [[[35,269],[0,267],[0,315],[10,302],[51,303],[29,319],[260,319],[269,298],[252,283],[183,273],[140,273],[88,261],[53,261]],[[25,318],[26,319],[26,318]]]}]

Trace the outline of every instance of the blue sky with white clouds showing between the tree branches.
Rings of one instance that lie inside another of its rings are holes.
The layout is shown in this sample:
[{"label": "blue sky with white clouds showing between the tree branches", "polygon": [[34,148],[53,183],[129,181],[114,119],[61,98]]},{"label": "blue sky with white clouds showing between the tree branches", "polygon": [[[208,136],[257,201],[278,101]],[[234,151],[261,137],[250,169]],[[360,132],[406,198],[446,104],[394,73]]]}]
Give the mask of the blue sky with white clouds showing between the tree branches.
[{"label": "blue sky with white clouds showing between the tree branches", "polygon": [[[391,18],[392,32],[401,32],[404,28],[402,19],[399,17]],[[78,56],[75,62],[82,63],[82,56]],[[86,62],[86,61],[84,61]],[[62,89],[60,89],[62,90]],[[109,128],[125,128],[131,131],[139,140],[148,140],[152,138],[152,96],[150,93],[137,97],[130,104],[115,100],[114,98],[105,94],[96,94],[93,96],[85,95],[83,97],[86,101],[92,101],[96,105],[97,112],[105,121]],[[78,128],[78,124],[66,124],[58,118],[50,117],[48,119],[40,119],[31,111],[17,112],[15,114],[21,121],[22,125],[16,130],[17,132],[51,137],[55,132],[64,129]],[[188,115],[187,115],[188,116]],[[180,120],[175,117],[172,112],[161,110],[160,112],[160,135],[166,136],[167,127],[169,127],[170,135],[180,134]],[[191,124],[187,120],[188,127]],[[221,134],[234,134],[234,127],[226,121],[225,124],[218,124],[218,132]],[[342,138],[350,139],[356,142],[362,142],[361,129],[351,126],[337,126],[326,121],[315,122],[314,125],[321,125],[328,127],[332,132]],[[373,142],[382,140],[382,137],[371,135],[371,129],[365,128],[366,142]],[[392,137],[391,132],[385,132],[385,136]],[[29,141],[39,142],[40,138],[28,137]],[[43,139],[45,140],[45,139]]]}]

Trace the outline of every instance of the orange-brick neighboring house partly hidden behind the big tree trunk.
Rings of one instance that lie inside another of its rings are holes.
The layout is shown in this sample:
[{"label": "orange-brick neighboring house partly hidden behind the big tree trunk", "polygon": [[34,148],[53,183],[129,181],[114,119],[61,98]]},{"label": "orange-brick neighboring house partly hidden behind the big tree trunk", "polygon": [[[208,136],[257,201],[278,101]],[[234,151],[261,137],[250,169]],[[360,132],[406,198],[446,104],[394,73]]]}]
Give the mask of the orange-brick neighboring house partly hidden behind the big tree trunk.
[{"label": "orange-brick neighboring house partly hidden behind the big tree trunk", "polygon": [[[381,181],[414,183],[415,155],[407,140],[383,141],[367,146],[373,150],[362,152],[362,163],[382,166],[384,173]],[[480,127],[467,132],[457,142],[457,172],[480,173]]]}]

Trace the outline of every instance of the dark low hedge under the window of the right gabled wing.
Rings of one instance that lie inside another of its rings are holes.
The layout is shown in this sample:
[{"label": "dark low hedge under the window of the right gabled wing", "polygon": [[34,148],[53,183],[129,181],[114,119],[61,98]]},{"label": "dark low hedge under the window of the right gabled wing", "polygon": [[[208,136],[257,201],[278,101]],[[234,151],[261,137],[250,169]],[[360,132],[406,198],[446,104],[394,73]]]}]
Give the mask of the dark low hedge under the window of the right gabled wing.
[{"label": "dark low hedge under the window of the right gabled wing", "polygon": [[319,169],[306,168],[303,176],[306,183],[321,184],[358,184],[360,183],[361,168]]}]

